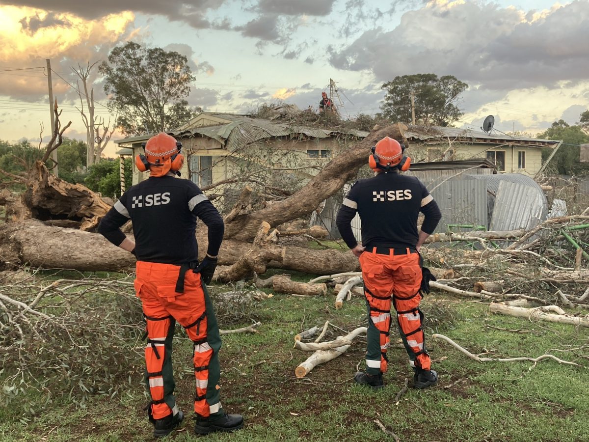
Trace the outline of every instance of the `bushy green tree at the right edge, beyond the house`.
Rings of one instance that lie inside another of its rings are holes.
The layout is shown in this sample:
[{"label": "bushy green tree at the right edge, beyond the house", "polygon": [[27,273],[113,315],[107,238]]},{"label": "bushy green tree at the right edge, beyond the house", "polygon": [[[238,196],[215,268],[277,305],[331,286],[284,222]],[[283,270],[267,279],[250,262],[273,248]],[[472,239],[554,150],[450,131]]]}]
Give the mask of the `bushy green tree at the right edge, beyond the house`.
[{"label": "bushy green tree at the right edge, beyond the house", "polygon": [[[587,174],[589,172],[589,164],[580,162],[581,151],[579,145],[589,143],[589,135],[583,132],[581,126],[570,126],[564,120],[554,121],[552,126],[538,134],[538,138],[562,140],[562,146],[558,149],[548,167],[564,175]],[[542,150],[542,161],[547,160],[551,152],[552,149]]]}]

